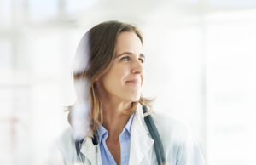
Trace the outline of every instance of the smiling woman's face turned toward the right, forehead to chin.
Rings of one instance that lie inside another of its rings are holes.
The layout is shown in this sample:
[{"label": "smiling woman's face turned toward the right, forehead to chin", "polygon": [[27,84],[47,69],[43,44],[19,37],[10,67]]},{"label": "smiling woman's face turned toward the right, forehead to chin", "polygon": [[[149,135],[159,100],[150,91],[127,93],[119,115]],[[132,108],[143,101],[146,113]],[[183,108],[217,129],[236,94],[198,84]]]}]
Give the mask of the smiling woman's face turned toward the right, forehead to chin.
[{"label": "smiling woman's face turned toward the right, forehead to chin", "polygon": [[134,32],[117,37],[114,60],[101,77],[107,100],[138,101],[143,87],[143,45]]}]

